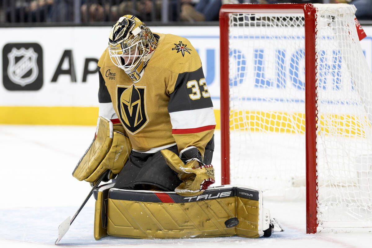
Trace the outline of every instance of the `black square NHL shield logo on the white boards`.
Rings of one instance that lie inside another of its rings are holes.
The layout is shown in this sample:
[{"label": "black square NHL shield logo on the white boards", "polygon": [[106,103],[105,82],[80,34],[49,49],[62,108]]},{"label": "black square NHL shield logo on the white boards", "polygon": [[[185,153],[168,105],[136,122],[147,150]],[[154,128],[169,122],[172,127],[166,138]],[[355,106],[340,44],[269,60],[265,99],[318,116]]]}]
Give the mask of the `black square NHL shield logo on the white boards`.
[{"label": "black square NHL shield logo on the white boards", "polygon": [[7,90],[39,90],[43,84],[42,49],[36,43],[3,48],[3,84]]}]

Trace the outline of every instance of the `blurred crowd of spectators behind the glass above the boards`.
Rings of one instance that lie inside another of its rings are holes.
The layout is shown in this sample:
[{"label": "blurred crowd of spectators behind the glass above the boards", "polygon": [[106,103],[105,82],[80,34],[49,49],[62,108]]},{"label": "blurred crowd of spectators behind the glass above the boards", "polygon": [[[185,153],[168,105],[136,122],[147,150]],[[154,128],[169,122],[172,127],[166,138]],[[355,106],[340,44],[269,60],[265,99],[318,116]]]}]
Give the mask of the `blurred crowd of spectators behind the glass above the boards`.
[{"label": "blurred crowd of spectators behind the glass above the boards", "polygon": [[115,22],[127,14],[152,22],[213,22],[227,3],[349,3],[359,20],[372,19],[372,0],[3,0],[0,23]]}]

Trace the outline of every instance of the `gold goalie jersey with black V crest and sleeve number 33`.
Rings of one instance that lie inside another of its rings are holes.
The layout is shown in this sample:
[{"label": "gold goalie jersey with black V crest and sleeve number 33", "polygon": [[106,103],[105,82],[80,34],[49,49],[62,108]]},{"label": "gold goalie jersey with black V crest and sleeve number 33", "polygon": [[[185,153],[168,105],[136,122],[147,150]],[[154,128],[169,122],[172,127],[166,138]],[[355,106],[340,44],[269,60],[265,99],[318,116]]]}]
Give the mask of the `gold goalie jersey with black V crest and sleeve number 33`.
[{"label": "gold goalie jersey with black V crest and sleeve number 33", "polygon": [[100,115],[120,122],[137,151],[177,144],[179,151],[196,146],[203,155],[216,122],[199,55],[186,38],[154,36],[157,46],[139,81],[105,49],[98,62]]}]

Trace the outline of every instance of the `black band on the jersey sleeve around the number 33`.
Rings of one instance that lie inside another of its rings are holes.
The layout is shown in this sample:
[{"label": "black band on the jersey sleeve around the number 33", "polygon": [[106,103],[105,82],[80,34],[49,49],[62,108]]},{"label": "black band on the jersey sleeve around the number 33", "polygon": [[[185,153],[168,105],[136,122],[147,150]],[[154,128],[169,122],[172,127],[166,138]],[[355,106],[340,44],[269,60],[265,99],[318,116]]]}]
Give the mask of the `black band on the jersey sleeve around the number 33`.
[{"label": "black band on the jersey sleeve around the number 33", "polygon": [[[174,86],[174,92],[170,94],[168,103],[169,113],[213,107],[211,97],[203,97],[201,94],[204,89],[203,86],[200,86],[199,81],[202,78],[204,78],[202,67],[196,71],[178,74],[176,85]],[[189,88],[187,88],[187,83],[190,81],[196,82],[191,84],[189,83]],[[196,86],[198,86],[198,88],[196,88]],[[192,100],[190,96],[193,94],[198,94],[198,92],[200,94],[200,98]]]}]

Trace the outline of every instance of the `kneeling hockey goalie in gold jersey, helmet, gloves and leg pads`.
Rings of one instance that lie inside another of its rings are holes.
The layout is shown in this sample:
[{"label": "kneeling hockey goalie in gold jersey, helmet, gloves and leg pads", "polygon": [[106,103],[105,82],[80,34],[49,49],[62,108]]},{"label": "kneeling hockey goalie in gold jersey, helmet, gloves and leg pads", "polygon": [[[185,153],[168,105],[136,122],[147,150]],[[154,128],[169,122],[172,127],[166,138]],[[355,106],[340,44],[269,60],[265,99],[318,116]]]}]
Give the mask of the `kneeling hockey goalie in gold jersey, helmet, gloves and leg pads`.
[{"label": "kneeling hockey goalie in gold jersey, helmet, gloves and leg pads", "polygon": [[[215,116],[201,60],[180,36],[120,17],[99,66],[96,135],[73,176],[94,190],[94,238],[270,236],[262,191],[214,183]],[[209,188],[208,188],[209,187]]]}]

